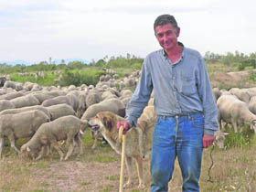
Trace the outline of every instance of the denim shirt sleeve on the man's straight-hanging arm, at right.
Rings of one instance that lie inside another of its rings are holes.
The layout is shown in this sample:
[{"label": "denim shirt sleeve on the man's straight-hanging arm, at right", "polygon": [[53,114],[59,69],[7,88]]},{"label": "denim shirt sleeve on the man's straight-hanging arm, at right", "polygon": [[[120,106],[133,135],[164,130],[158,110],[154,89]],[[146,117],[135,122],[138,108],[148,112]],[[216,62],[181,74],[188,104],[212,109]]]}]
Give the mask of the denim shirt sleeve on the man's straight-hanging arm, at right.
[{"label": "denim shirt sleeve on the man's straight-hanging arm, at right", "polygon": [[200,57],[200,59],[198,59],[198,62],[198,93],[202,101],[205,118],[204,133],[213,134],[215,131],[219,130],[218,109],[213,97],[205,60]]}]

